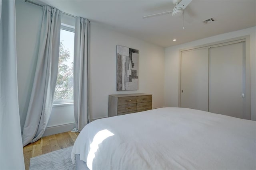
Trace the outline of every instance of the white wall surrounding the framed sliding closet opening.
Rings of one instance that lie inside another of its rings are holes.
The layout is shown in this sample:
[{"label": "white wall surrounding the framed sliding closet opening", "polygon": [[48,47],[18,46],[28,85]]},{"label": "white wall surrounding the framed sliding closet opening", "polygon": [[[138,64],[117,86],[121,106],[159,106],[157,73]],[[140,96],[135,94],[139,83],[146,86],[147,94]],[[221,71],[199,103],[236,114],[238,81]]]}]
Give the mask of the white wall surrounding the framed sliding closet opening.
[{"label": "white wall surrounding the framed sliding closet opening", "polygon": [[256,27],[224,33],[165,49],[164,101],[166,107],[178,107],[179,50],[250,35],[251,119],[256,120]]}]

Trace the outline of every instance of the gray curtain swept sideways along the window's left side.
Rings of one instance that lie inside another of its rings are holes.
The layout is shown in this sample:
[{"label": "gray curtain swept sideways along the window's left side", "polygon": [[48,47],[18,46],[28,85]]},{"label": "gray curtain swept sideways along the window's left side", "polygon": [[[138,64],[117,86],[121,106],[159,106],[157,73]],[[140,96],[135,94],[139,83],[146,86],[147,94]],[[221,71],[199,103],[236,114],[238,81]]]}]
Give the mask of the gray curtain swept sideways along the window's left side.
[{"label": "gray curtain swept sideways along the window's left side", "polygon": [[36,73],[22,134],[23,146],[42,137],[52,111],[58,73],[60,23],[61,12],[44,6]]}]

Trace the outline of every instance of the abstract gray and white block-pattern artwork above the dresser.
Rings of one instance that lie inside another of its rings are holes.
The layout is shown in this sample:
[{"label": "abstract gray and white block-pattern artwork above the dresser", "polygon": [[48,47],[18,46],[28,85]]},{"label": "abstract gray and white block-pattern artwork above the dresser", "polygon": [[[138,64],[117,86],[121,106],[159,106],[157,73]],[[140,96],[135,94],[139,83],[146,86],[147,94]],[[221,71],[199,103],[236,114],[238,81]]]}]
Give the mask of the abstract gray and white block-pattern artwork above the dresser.
[{"label": "abstract gray and white block-pattern artwork above the dresser", "polygon": [[139,51],[116,46],[116,90],[138,90]]}]

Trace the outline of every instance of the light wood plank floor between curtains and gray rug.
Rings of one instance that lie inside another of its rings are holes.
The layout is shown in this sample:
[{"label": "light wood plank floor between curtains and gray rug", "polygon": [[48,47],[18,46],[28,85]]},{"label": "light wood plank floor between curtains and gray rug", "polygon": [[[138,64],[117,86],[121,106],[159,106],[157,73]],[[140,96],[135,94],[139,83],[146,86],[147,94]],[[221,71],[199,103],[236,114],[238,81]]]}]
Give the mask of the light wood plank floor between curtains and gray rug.
[{"label": "light wood plank floor between curtains and gray rug", "polygon": [[23,147],[23,155],[26,170],[29,170],[30,158],[46,154],[54,150],[63,149],[74,145],[79,133],[64,132],[42,137],[34,143]]}]

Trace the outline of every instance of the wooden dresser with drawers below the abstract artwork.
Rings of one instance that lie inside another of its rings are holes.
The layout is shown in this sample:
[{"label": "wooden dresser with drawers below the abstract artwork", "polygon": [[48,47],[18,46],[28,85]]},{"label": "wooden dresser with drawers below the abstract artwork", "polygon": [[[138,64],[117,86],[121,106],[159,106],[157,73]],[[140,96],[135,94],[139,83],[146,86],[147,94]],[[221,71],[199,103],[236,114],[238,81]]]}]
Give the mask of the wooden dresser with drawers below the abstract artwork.
[{"label": "wooden dresser with drawers below the abstract artwork", "polygon": [[152,94],[114,94],[108,96],[108,117],[152,109]]}]

